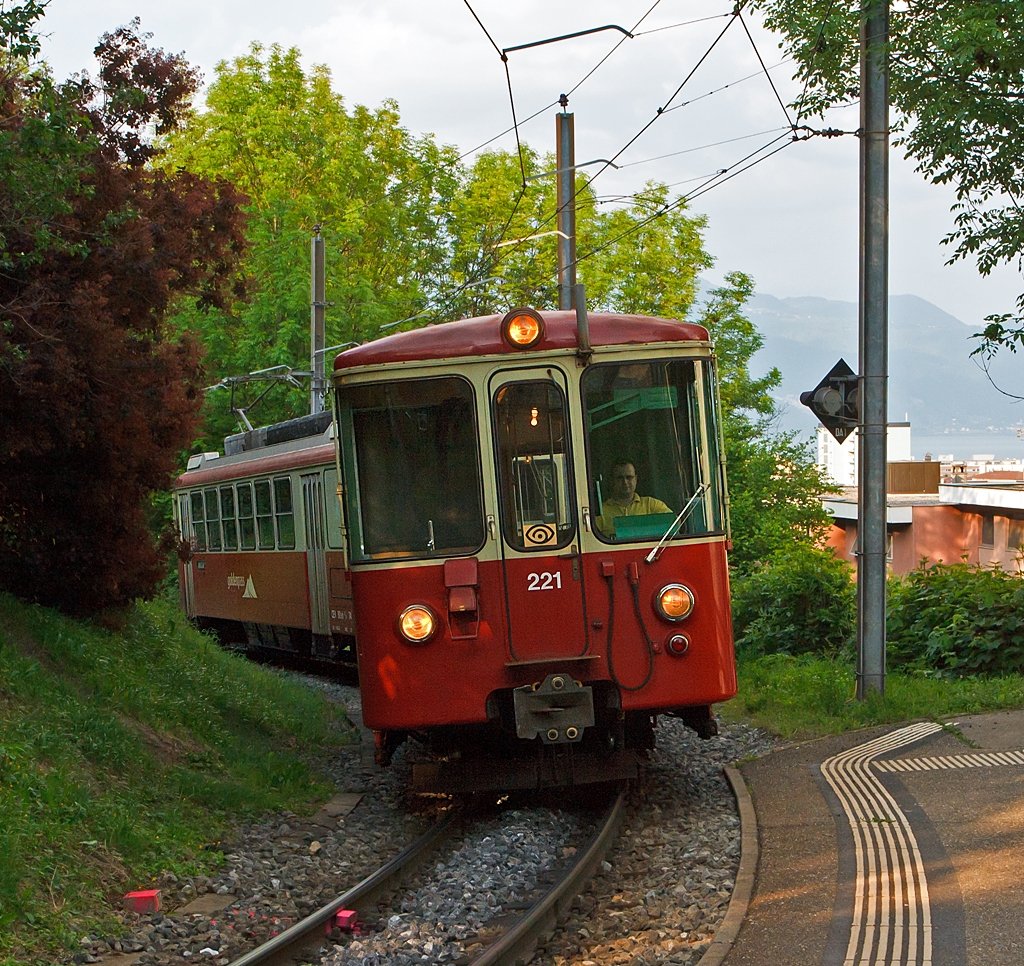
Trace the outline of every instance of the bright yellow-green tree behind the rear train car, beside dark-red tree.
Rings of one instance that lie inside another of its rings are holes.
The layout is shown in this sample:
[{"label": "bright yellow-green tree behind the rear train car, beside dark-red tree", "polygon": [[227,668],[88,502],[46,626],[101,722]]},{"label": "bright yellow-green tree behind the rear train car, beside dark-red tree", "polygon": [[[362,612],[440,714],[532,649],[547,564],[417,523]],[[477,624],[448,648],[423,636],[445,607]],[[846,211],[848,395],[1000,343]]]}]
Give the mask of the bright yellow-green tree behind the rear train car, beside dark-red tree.
[{"label": "bright yellow-green tree behind the rear train car, beside dark-red tree", "polygon": [[[158,166],[228,179],[249,197],[247,292],[216,308],[179,306],[178,331],[195,331],[213,379],[309,359],[309,238],[328,239],[328,345],[375,338],[381,326],[425,307],[446,262],[445,212],[455,155],[413,137],[387,100],[351,111],[327,68],[304,72],[295,48],[222,61],[193,113],[162,141]],[[270,396],[263,422],[303,412],[298,391]],[[232,431],[219,402],[207,433]]]}]

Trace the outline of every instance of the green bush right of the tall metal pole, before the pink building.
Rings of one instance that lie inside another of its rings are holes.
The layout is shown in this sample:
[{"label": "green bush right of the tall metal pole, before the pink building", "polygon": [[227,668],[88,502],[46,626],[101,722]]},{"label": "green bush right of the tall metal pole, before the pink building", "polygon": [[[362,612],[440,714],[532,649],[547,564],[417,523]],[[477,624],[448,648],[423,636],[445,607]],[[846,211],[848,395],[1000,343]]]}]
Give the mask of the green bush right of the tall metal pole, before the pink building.
[{"label": "green bush right of the tall metal pole, before the pink building", "polygon": [[936,564],[889,581],[887,657],[943,677],[1024,671],[1024,580]]}]

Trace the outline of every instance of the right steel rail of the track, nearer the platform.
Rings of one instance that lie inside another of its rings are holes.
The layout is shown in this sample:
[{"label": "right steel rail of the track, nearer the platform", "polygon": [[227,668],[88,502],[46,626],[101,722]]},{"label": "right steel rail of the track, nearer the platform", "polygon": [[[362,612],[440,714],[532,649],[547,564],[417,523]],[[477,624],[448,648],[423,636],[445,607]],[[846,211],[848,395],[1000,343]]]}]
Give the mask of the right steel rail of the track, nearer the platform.
[{"label": "right steel rail of the track, nearer the platform", "polygon": [[505,935],[474,959],[470,966],[515,966],[517,962],[526,960],[540,938],[568,912],[572,900],[611,848],[626,817],[628,791],[629,786],[626,785],[606,812],[601,828],[591,839],[581,859]]}]

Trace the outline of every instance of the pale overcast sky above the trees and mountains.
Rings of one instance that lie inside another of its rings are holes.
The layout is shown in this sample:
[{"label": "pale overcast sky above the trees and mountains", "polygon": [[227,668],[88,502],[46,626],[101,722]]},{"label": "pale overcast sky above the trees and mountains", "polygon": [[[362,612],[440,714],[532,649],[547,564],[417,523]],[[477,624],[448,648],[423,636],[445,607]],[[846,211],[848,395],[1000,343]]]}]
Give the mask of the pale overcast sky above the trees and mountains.
[{"label": "pale overcast sky above the trees and mountains", "polygon": [[[500,47],[618,24],[632,28],[653,0],[472,0]],[[728,23],[724,0],[660,0],[627,39],[574,92],[577,160],[610,158],[650,120]],[[716,15],[719,16],[716,16]],[[304,62],[326,64],[335,89],[349,104],[398,101],[414,133],[469,151],[510,126],[508,90],[501,60],[463,0],[52,0],[43,20],[44,54],[57,77],[92,69],[99,34],[141,19],[153,43],[183,52],[206,80],[219,60],[249,44],[297,46]],[[715,17],[674,27],[681,22]],[[749,22],[761,56],[783,100],[799,93],[777,39]],[[656,30],[658,28],[670,28]],[[605,32],[509,55],[516,110],[525,118],[557,99],[618,41]],[[599,195],[634,192],[654,178],[678,183],[741,158],[781,131],[785,118],[760,70],[741,26],[734,23],[672,101],[708,94],[664,114],[595,182]],[[554,109],[521,127],[521,136],[545,151],[554,144]],[[857,127],[857,109],[837,113],[835,127]],[[764,133],[773,131],[773,133]],[[760,135],[751,136],[748,135]],[[703,148],[733,138],[731,143]],[[509,134],[494,142],[514,149]],[[701,150],[692,150],[701,149]],[[685,152],[680,154],[681,152]],[[664,155],[674,157],[649,160]],[[644,162],[644,163],[636,163]],[[596,171],[597,168],[591,168]],[[925,183],[893,154],[891,166],[890,292],[914,294],[977,327],[984,316],[1013,308],[1021,291],[1007,268],[989,279],[973,264],[946,266],[939,239],[951,224],[948,190]],[[815,138],[796,143],[695,199],[709,217],[707,242],[715,255],[714,281],[733,269],[754,276],[758,289],[779,297],[857,297],[857,139]]]}]

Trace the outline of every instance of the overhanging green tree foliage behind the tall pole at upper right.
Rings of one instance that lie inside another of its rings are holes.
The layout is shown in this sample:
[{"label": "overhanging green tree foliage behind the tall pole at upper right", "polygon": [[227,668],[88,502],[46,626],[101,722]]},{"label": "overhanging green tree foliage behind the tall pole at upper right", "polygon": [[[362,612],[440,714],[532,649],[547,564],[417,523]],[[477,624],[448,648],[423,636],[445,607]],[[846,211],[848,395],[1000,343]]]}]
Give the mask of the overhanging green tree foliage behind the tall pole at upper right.
[{"label": "overhanging green tree foliage behind the tall pole at upper right", "polygon": [[[802,114],[820,116],[860,91],[859,2],[754,0],[783,35],[805,93]],[[956,191],[950,261],[974,257],[988,275],[1021,266],[1024,252],[1024,0],[920,0],[891,14],[889,90],[896,143],[918,171]],[[993,314],[978,351],[1024,345],[1017,313]]]}]

